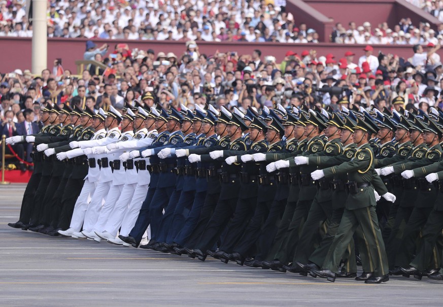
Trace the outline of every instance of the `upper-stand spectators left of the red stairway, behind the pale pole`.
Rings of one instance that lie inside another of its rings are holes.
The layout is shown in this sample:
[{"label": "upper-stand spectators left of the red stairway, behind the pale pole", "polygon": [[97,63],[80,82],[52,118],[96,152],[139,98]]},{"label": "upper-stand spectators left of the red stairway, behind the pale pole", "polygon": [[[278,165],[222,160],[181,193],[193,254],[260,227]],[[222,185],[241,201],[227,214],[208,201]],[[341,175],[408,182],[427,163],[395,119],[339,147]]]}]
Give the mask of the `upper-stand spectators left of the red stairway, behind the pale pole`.
[{"label": "upper-stand spectators left of the red stairway, behind the pale pole", "polygon": [[[318,43],[316,30],[285,7],[286,0],[51,1],[48,37]],[[0,12],[0,36],[32,36],[22,3],[3,1]]]}]

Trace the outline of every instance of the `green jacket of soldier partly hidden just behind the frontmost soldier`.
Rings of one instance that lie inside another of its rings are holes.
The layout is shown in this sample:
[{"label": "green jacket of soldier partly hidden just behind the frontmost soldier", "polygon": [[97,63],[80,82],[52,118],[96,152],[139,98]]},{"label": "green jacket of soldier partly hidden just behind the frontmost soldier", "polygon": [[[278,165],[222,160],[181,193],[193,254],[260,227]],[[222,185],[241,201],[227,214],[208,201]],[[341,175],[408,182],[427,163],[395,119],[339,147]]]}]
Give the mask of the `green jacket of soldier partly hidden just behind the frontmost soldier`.
[{"label": "green jacket of soldier partly hidden just behind the frontmost soldier", "polygon": [[[308,158],[309,164],[317,165],[319,169],[324,167],[330,167],[342,164],[344,162],[349,162],[354,157],[357,150],[357,145],[351,143],[343,147],[342,152],[336,156],[310,156]],[[337,186],[336,189],[332,191],[332,209],[345,208],[345,202],[348,198],[348,194],[344,189],[345,183],[348,181],[347,174],[335,174],[333,176],[333,183]]]}]

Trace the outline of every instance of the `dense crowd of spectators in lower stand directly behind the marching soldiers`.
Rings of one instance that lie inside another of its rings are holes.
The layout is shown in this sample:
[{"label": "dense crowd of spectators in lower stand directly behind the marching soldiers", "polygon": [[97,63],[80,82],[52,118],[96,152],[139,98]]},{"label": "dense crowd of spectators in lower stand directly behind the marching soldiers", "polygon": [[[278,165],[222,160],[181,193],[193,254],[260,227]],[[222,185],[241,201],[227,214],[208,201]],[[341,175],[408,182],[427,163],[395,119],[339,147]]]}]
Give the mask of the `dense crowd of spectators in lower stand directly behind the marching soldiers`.
[{"label": "dense crowd of spectators in lower stand directly behind the marching soldiers", "polygon": [[[35,132],[42,104],[70,104],[109,110],[140,105],[181,105],[194,109],[208,104],[241,111],[251,106],[331,108],[372,106],[379,110],[443,107],[443,66],[439,45],[411,46],[411,57],[383,54],[367,45],[361,53],[300,54],[288,51],[280,63],[260,50],[238,54],[199,52],[197,42],[184,43],[178,56],[172,52],[129,49],[125,44],[110,51],[107,45],[86,43],[85,58],[106,69],[90,66],[81,76],[62,70],[61,59],[40,76],[19,69],[2,74],[0,131],[3,134]],[[400,97],[400,98],[398,98]],[[36,123],[32,124],[32,122]],[[31,123],[31,124],[29,124]],[[19,129],[18,125],[22,127]],[[22,154],[23,155],[23,154]]]}]

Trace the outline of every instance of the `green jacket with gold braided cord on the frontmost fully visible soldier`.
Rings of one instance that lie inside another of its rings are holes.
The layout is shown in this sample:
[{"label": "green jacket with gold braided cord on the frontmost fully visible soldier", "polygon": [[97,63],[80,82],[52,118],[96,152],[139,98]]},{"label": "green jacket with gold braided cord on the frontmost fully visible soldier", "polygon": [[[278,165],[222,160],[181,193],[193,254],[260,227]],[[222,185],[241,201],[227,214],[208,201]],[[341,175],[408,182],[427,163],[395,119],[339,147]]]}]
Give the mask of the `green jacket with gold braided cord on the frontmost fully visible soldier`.
[{"label": "green jacket with gold braided cord on the frontmost fully visible soldier", "polygon": [[372,183],[373,186],[358,187],[356,194],[349,194],[345,208],[355,210],[370,206],[376,206],[374,188],[383,195],[388,192],[383,181],[374,172],[374,153],[368,143],[357,148],[354,157],[349,162],[323,169],[325,177],[333,177],[340,174],[348,174],[350,182],[357,184]]}]

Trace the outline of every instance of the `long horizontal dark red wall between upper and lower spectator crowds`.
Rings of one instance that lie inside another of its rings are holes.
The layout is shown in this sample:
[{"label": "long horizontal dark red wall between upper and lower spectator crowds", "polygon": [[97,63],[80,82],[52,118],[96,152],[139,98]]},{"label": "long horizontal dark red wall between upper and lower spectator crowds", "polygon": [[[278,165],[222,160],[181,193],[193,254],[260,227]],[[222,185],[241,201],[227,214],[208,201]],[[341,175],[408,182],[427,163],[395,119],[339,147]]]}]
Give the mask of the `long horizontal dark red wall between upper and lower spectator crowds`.
[{"label": "long horizontal dark red wall between upper and lower spectator crowds", "polygon": [[[64,69],[70,69],[74,74],[77,72],[76,60],[83,59],[85,51],[85,41],[80,39],[48,39],[48,65],[52,66],[55,58],[61,57]],[[139,48],[141,50],[154,49],[156,53],[163,51],[174,52],[180,56],[185,51],[185,44],[182,42],[151,42],[151,41],[107,41],[94,40],[97,45],[108,43],[111,50],[118,43],[127,43],[129,48]],[[0,49],[2,50],[3,60],[0,62],[0,73],[9,73],[19,68],[21,70],[31,69],[31,39],[30,38],[0,38]],[[270,44],[270,43],[210,43],[201,42],[198,44],[200,53],[208,55],[214,54],[216,50],[220,52],[236,51],[239,54],[251,54],[254,49],[260,49],[262,56],[274,55],[277,61],[281,61],[285,53],[289,50],[298,54],[305,49],[316,49],[320,55],[333,53],[338,60],[343,54],[351,50],[357,54],[357,57],[363,55],[363,46],[361,45],[337,45],[331,43],[322,44]],[[374,54],[378,50],[383,53],[398,54],[401,57],[411,57],[413,55],[412,46],[374,46]],[[443,57],[443,51],[438,52]]]}]

